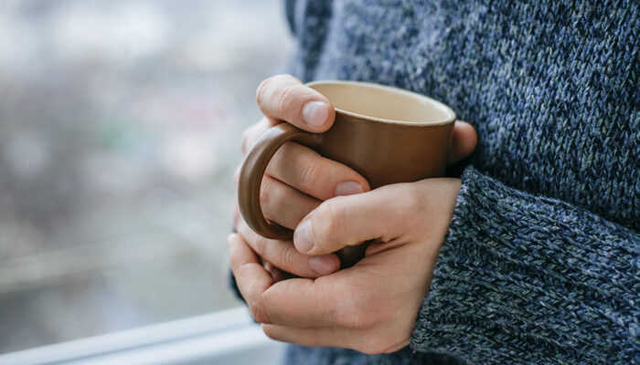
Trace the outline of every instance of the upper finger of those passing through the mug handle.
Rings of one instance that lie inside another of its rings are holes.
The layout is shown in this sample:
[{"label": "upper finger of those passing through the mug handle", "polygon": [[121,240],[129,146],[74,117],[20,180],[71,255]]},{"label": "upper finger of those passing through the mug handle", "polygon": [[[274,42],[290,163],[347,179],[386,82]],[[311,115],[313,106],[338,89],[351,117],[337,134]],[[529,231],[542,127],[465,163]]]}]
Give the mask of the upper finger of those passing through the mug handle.
[{"label": "upper finger of those passing through the mug handle", "polygon": [[320,200],[369,190],[367,180],[359,173],[293,142],[285,143],[275,153],[267,173]]}]

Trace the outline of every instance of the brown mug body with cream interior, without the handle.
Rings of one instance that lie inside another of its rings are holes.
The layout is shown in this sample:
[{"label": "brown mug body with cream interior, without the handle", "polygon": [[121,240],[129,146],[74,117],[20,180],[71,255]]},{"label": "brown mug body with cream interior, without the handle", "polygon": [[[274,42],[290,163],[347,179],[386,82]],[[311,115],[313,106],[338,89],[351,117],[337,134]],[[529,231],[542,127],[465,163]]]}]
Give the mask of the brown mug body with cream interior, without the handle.
[{"label": "brown mug body with cream interior, without the handle", "polygon": [[336,108],[315,148],[365,177],[372,189],[443,176],[453,110],[410,91],[352,81],[307,84]]}]

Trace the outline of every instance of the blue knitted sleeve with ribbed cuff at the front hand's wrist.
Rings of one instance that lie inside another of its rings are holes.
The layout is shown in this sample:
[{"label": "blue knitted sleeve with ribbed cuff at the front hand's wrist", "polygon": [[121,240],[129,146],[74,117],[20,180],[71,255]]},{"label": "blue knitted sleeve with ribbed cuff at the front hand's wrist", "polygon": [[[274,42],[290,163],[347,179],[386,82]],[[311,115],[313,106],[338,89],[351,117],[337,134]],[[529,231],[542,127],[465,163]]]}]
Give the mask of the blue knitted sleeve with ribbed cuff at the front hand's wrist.
[{"label": "blue knitted sleeve with ribbed cuff at the front hand's wrist", "polygon": [[469,168],[411,346],[471,363],[640,363],[640,237]]}]

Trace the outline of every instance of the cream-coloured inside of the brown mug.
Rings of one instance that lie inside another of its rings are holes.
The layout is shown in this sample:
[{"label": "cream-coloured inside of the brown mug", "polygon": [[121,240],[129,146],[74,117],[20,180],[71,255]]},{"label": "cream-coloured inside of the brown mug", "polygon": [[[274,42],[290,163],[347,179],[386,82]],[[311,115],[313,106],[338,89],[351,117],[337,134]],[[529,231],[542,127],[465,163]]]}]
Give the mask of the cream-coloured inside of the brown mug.
[{"label": "cream-coloured inside of the brown mug", "polygon": [[440,101],[411,91],[355,81],[308,83],[336,110],[370,120],[400,124],[446,124],[455,113]]}]

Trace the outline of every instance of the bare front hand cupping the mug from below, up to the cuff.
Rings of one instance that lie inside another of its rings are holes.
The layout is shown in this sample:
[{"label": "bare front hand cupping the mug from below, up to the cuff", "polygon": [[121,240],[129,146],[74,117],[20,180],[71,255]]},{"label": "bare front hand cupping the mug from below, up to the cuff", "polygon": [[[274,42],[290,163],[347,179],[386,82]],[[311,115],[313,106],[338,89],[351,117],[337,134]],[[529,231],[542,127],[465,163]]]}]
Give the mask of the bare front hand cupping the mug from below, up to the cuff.
[{"label": "bare front hand cupping the mug from below, up to the cuff", "polygon": [[298,224],[293,242],[323,255],[377,239],[356,266],[316,279],[276,281],[241,235],[231,268],[251,314],[272,339],[366,353],[409,344],[453,216],[459,179],[399,183],[329,199]]}]

